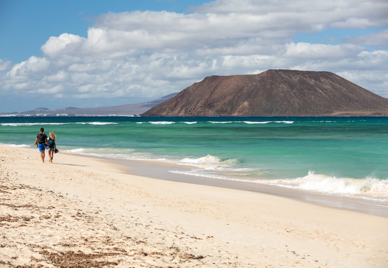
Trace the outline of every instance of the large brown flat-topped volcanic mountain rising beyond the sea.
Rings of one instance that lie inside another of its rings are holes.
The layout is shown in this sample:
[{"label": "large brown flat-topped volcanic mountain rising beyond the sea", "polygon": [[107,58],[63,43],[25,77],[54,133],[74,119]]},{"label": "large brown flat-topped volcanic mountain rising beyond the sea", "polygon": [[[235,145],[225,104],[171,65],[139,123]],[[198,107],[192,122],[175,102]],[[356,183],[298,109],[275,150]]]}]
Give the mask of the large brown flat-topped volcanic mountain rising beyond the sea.
[{"label": "large brown flat-topped volcanic mountain rising beyond the sea", "polygon": [[208,76],[142,116],[388,116],[388,99],[330,72]]}]

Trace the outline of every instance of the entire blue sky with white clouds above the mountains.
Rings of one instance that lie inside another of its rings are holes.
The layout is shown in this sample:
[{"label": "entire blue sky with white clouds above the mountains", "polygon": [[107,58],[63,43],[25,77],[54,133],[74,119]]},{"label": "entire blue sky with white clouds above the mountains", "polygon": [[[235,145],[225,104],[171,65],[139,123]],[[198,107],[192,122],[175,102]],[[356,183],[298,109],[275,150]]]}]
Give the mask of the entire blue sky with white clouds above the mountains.
[{"label": "entire blue sky with white clouds above the mountains", "polygon": [[139,103],[268,69],[388,98],[386,0],[0,0],[0,40],[0,112]]}]

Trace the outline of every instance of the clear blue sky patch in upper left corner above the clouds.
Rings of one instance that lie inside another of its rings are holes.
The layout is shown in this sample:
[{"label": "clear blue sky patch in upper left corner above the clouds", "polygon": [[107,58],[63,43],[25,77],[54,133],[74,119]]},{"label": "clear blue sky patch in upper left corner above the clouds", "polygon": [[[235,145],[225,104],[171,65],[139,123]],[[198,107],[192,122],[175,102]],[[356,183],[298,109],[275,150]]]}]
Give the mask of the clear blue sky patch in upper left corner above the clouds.
[{"label": "clear blue sky patch in upper left corner above the clouds", "polygon": [[21,62],[42,56],[40,47],[50,36],[72,33],[86,37],[94,19],[107,12],[167,10],[186,13],[206,1],[49,1],[0,0],[0,59]]}]

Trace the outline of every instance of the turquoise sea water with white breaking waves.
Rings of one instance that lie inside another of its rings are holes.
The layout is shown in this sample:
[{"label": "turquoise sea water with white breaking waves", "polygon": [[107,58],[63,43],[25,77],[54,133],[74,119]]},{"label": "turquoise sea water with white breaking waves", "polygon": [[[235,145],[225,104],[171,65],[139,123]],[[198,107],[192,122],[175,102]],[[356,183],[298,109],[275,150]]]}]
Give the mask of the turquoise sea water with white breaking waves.
[{"label": "turquoise sea water with white breaking waves", "polygon": [[0,117],[1,144],[36,149],[40,127],[57,135],[62,152],[388,200],[388,118]]}]

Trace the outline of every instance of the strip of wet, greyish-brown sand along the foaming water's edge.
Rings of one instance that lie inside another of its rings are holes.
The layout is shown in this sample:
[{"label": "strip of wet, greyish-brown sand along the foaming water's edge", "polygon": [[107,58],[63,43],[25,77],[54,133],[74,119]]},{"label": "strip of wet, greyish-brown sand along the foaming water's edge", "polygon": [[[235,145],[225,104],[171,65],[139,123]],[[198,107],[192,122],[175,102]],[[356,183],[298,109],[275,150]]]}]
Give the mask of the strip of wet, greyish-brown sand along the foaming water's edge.
[{"label": "strip of wet, greyish-brown sand along the foaming water's edge", "polygon": [[[77,154],[74,154],[77,155]],[[348,197],[336,194],[315,192],[309,190],[300,190],[278,185],[269,185],[256,182],[244,182],[235,180],[223,180],[218,178],[209,178],[194,175],[185,175],[170,172],[173,170],[190,170],[197,167],[175,165],[157,161],[142,161],[133,159],[109,158],[100,156],[81,155],[85,157],[100,159],[109,164],[117,166],[122,172],[137,176],[145,176],[158,180],[167,180],[172,182],[183,182],[190,184],[206,185],[212,187],[229,188],[234,190],[243,190],[262,194],[269,194],[279,197],[294,199],[296,201],[307,202],[320,206],[344,209],[359,213],[371,214],[376,216],[388,217],[388,202],[381,204],[380,201],[373,199],[364,199],[360,197]]]}]

